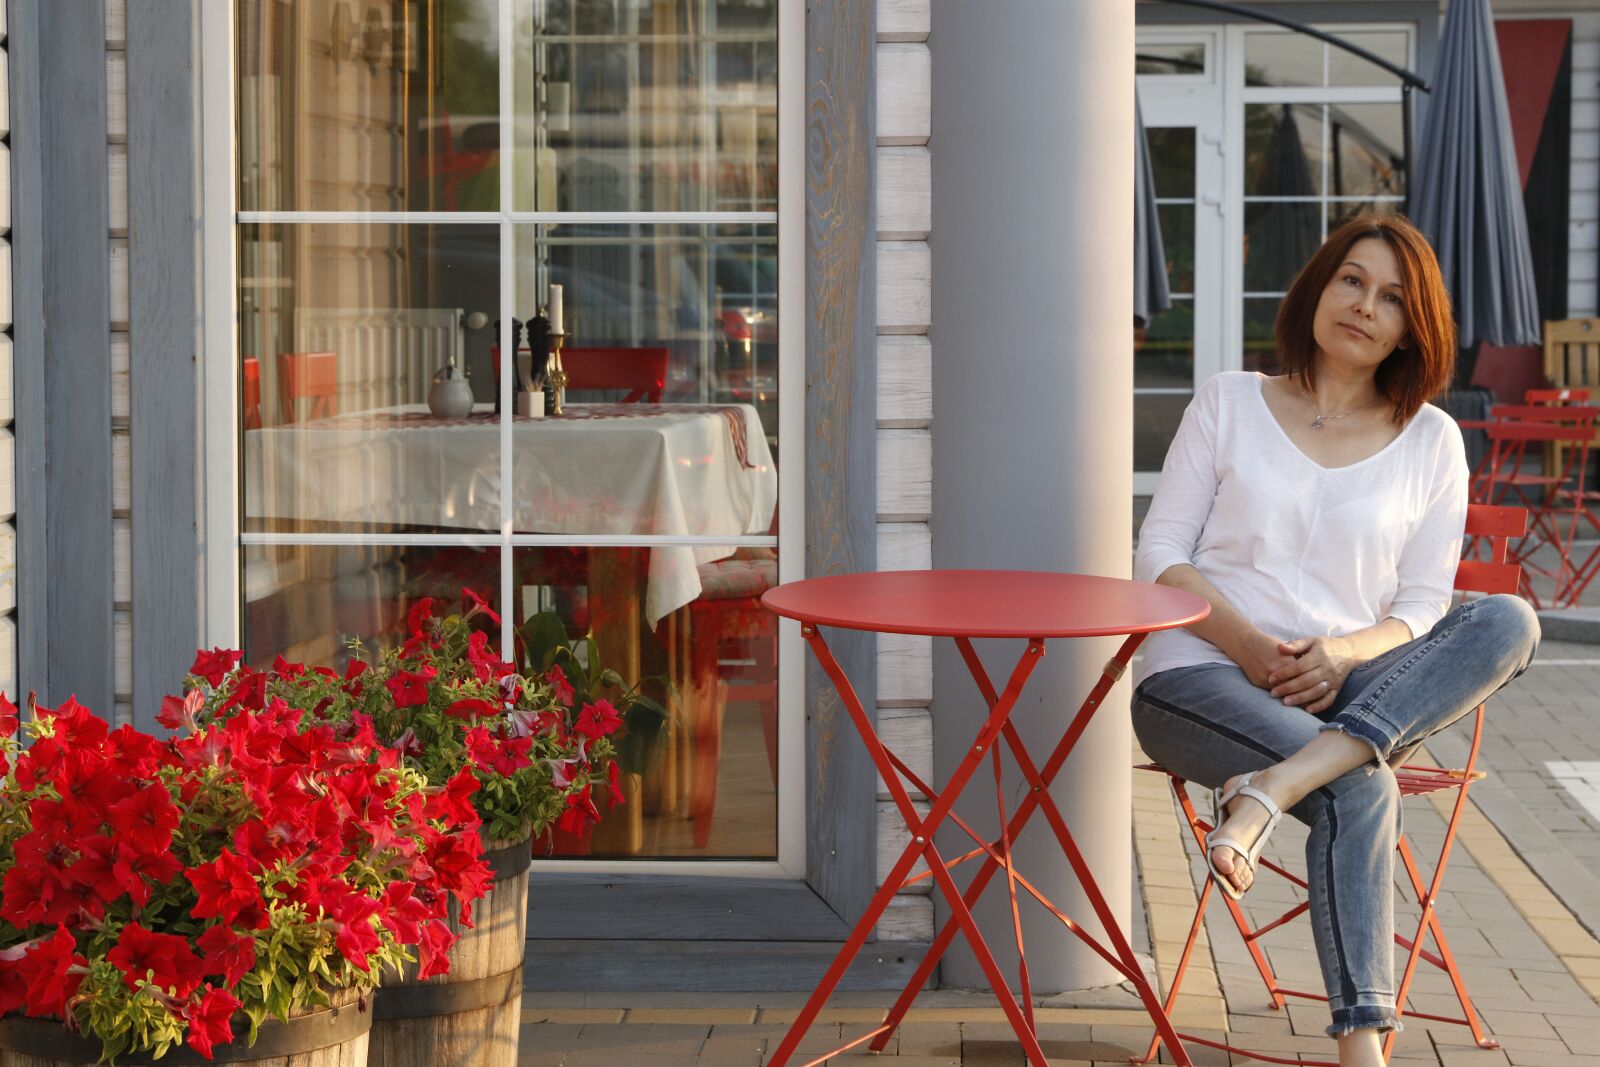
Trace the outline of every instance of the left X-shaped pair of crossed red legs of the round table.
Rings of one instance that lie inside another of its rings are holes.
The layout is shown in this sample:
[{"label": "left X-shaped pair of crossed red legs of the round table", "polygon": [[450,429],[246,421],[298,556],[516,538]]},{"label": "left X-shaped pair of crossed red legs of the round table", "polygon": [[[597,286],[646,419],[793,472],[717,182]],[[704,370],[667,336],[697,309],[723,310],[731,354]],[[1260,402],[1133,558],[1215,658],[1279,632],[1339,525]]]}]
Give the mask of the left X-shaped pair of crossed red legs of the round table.
[{"label": "left X-shaped pair of crossed red legs of the round table", "polygon": [[[966,939],[973,949],[973,955],[978,957],[979,966],[984,969],[986,977],[989,977],[990,984],[994,985],[995,995],[1000,1000],[1000,1008],[1005,1011],[1006,1019],[1011,1022],[1011,1029],[1016,1030],[1018,1041],[1021,1041],[1029,1062],[1034,1064],[1034,1067],[1048,1067],[1048,1061],[1045,1059],[1043,1049],[1038,1046],[1038,1038],[1035,1037],[1029,1024],[1029,1019],[1019,1011],[1016,998],[1011,995],[1010,987],[1005,982],[1005,976],[1000,974],[1000,968],[995,963],[994,955],[989,952],[989,945],[984,942],[982,934],[978,931],[978,925],[973,921],[966,901],[962,899],[962,893],[955,886],[955,881],[950,877],[950,872],[946,867],[944,859],[933,846],[934,832],[944,822],[946,816],[950,813],[950,808],[955,805],[955,800],[966,787],[968,779],[971,779],[973,773],[978,769],[978,765],[982,761],[984,753],[994,749],[995,742],[1000,741],[1000,733],[1011,715],[1011,709],[1016,705],[1016,699],[1022,693],[1022,686],[1027,683],[1027,678],[1034,672],[1034,667],[1045,654],[1043,641],[1032,640],[1027,643],[1027,649],[1022,653],[1016,669],[1011,672],[1011,678],[1006,683],[1005,693],[1000,694],[998,699],[990,704],[989,718],[984,720],[984,725],[978,731],[978,737],[974,739],[971,749],[968,749],[966,755],[962,757],[962,761],[950,774],[950,781],[946,784],[944,792],[941,795],[928,797],[933,801],[933,809],[928,813],[925,819],[918,819],[917,809],[910,801],[910,795],[906,792],[906,785],[901,782],[899,774],[894,771],[893,760],[883,749],[883,742],[878,741],[877,731],[874,731],[872,728],[872,720],[862,709],[861,699],[856,696],[854,688],[850,685],[850,678],[845,677],[843,669],[838,665],[838,662],[834,659],[834,654],[829,651],[827,641],[822,640],[822,635],[813,625],[802,625],[800,632],[811,645],[811,651],[816,654],[818,662],[822,665],[822,670],[827,673],[827,677],[834,683],[834,688],[838,691],[840,701],[843,701],[845,704],[845,710],[850,713],[850,718],[854,723],[858,733],[861,734],[862,742],[867,745],[867,752],[872,757],[874,765],[883,776],[890,795],[894,798],[894,805],[899,808],[902,817],[906,819],[906,825],[912,833],[912,840],[906,846],[906,851],[901,854],[899,861],[896,861],[894,869],[890,872],[890,877],[883,881],[883,886],[880,886],[878,891],[872,896],[872,901],[867,905],[866,913],[856,923],[856,928],[851,931],[850,939],[845,942],[845,945],[838,950],[838,955],[835,955],[834,963],[822,976],[821,984],[818,984],[816,990],[811,993],[805,1006],[800,1009],[800,1014],[795,1017],[794,1025],[790,1025],[789,1033],[784,1035],[784,1040],[774,1049],[773,1059],[770,1061],[770,1067],[784,1067],[789,1062],[789,1057],[794,1056],[794,1051],[800,1045],[800,1040],[805,1037],[805,1032],[811,1027],[811,1022],[822,1009],[822,1005],[832,995],[834,989],[838,985],[845,971],[850,968],[851,961],[854,961],[856,955],[861,952],[861,947],[866,944],[867,936],[877,925],[878,917],[882,917],[883,910],[888,907],[890,899],[899,891],[902,881],[906,880],[906,875],[910,872],[910,867],[920,857],[926,857],[928,869],[933,872],[934,881],[938,881],[939,889],[949,899],[952,918],[955,921],[947,923],[946,929],[950,931],[952,937],[955,929],[960,929],[962,933],[966,934]],[[926,976],[923,976],[923,981],[926,981]],[[917,984],[918,989],[920,985],[922,982]],[[893,1025],[880,1027],[872,1033],[869,1033],[869,1037],[882,1038],[885,1033],[891,1030]]]}]

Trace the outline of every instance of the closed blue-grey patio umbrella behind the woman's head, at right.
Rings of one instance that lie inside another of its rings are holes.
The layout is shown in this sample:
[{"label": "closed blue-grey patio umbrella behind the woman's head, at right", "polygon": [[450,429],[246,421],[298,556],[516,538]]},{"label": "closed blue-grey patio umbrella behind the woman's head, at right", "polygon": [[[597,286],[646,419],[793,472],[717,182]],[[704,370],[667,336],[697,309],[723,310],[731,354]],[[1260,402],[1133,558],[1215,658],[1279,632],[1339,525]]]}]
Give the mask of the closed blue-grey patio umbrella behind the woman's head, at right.
[{"label": "closed blue-grey patio umbrella behind the woman's head, at right", "polygon": [[1413,171],[1411,221],[1434,242],[1461,346],[1539,344],[1539,301],[1488,0],[1451,0]]}]

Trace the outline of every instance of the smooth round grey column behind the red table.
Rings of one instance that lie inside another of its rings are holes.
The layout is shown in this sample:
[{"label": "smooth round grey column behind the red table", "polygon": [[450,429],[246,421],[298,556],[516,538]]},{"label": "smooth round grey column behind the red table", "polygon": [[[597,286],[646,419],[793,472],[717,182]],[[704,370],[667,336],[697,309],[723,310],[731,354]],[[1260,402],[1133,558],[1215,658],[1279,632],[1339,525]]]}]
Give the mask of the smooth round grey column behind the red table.
[{"label": "smooth round grey column behind the red table", "polygon": [[[1133,0],[934,0],[933,565],[1126,577],[1133,494]],[[1054,641],[1014,721],[1037,761],[1115,641]],[[1003,686],[1021,641],[981,649]],[[1112,689],[1054,789],[1126,929],[1131,896],[1126,683]],[[984,707],[949,641],[934,643],[942,781]],[[1013,769],[1008,805],[1022,792]],[[986,763],[963,817],[997,829]],[[952,856],[970,848],[939,833]],[[1098,929],[1042,816],[1019,867]],[[965,885],[965,877],[958,878]],[[997,893],[998,889],[998,893]],[[939,923],[949,907],[934,894]],[[1053,917],[1022,902],[1035,993],[1118,981]],[[1006,981],[1016,949],[1003,878],[978,920]],[[984,987],[957,947],[941,981]]]}]

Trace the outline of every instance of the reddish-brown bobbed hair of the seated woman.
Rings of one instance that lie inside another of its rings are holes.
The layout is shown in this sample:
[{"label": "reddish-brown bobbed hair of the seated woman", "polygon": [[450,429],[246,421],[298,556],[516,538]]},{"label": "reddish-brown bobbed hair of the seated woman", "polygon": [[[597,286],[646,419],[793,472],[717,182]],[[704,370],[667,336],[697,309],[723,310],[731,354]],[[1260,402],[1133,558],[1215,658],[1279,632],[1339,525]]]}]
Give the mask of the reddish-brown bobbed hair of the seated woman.
[{"label": "reddish-brown bobbed hair of the seated woman", "polygon": [[1350,258],[1357,242],[1378,238],[1389,245],[1400,266],[1400,294],[1406,336],[1389,358],[1378,365],[1378,392],[1394,405],[1395,426],[1411,421],[1422,405],[1445,392],[1456,376],[1456,322],[1450,314],[1450,291],[1438,272],[1438,258],[1422,232],[1395,214],[1358,214],[1322,243],[1290,283],[1278,306],[1274,336],[1285,374],[1310,387],[1317,373],[1317,338],[1312,323],[1322,291]]}]

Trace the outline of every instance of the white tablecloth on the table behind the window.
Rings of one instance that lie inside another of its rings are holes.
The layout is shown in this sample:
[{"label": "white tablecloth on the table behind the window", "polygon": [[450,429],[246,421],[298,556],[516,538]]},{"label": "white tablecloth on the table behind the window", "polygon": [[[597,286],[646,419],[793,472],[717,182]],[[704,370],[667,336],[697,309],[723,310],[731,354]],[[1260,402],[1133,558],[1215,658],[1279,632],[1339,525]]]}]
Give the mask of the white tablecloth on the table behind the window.
[{"label": "white tablecloth on the table behind the window", "polygon": [[[626,418],[514,421],[514,531],[574,539],[766,533],[778,469],[755,408],[734,410],[744,419],[742,459],[718,410],[654,405]],[[246,528],[302,520],[498,533],[499,437],[499,421],[485,413],[432,419],[421,405],[246,430]],[[701,563],[731,552],[651,545],[650,625],[699,595]]]}]

